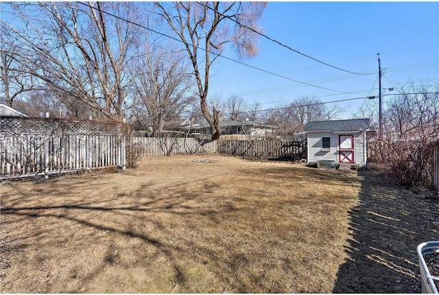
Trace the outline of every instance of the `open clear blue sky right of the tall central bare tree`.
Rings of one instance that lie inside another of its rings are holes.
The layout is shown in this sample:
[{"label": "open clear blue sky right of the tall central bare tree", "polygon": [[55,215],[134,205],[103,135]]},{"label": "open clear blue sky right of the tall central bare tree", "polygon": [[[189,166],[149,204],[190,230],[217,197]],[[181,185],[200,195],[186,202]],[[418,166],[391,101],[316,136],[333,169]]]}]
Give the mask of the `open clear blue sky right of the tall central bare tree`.
[{"label": "open clear blue sky right of the tall central bare tree", "polygon": [[[327,89],[220,59],[213,68],[213,97],[226,99],[235,94],[248,104],[275,108],[300,95],[320,97],[323,102],[377,95],[377,53],[383,88],[439,76],[439,3],[270,2],[261,26],[267,36],[307,56],[369,75],[327,67],[261,38],[259,56],[243,60],[246,64]],[[232,51],[225,51],[224,56],[237,59]],[[351,117],[366,103],[368,99],[338,103],[345,109],[340,119]]]}]

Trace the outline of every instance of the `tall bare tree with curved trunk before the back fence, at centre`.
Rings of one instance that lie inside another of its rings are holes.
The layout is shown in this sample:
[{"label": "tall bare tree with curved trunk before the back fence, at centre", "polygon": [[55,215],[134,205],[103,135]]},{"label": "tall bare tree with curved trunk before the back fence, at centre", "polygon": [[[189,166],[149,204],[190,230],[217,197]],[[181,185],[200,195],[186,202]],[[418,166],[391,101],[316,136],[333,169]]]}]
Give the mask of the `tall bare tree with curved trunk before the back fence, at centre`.
[{"label": "tall bare tree with curved trunk before the back fence, at centre", "polygon": [[[156,2],[158,14],[182,41],[193,66],[202,113],[212,129],[212,141],[219,138],[219,110],[209,112],[210,68],[226,43],[235,45],[239,56],[257,54],[257,34],[229,19],[258,29],[265,8],[262,2]],[[204,51],[200,54],[200,50]]]}]

